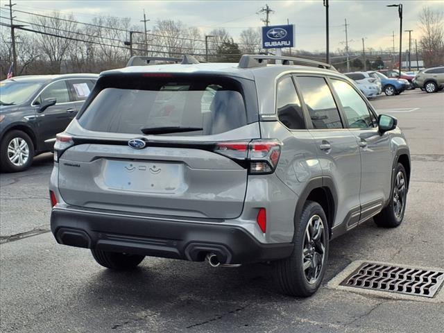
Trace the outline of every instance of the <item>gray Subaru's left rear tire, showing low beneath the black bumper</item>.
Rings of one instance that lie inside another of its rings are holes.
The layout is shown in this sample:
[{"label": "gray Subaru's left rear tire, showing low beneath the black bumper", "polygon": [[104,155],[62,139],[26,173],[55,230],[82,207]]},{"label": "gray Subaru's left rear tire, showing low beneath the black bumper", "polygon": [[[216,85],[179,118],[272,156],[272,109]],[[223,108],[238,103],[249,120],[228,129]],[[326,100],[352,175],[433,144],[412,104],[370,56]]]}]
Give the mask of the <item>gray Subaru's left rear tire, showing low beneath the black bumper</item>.
[{"label": "gray Subaru's left rear tire, showing low beneath the black bumper", "polygon": [[117,271],[126,271],[135,268],[144,259],[144,255],[127,255],[110,251],[91,249],[92,256],[96,262],[103,267]]}]

